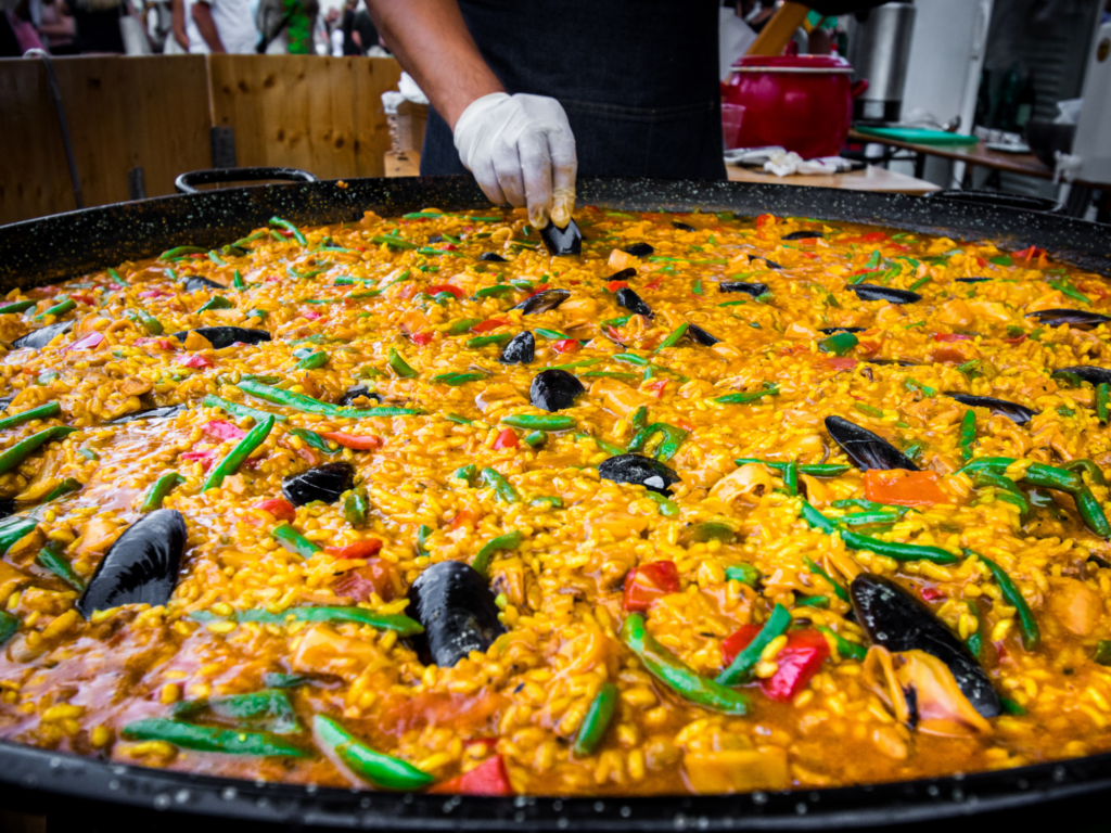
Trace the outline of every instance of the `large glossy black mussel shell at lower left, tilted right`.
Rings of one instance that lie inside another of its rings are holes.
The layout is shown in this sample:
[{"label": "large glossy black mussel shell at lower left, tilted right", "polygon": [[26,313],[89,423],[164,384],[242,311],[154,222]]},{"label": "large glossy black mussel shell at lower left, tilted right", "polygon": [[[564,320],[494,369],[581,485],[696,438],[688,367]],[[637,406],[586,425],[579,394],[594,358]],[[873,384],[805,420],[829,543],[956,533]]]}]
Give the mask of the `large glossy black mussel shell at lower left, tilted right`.
[{"label": "large glossy black mussel shell at lower left, tilted right", "polygon": [[186,539],[186,519],[177,510],[158,509],[140,518],[97,564],[78,611],[88,619],[121,604],[166,604],[178,583]]}]

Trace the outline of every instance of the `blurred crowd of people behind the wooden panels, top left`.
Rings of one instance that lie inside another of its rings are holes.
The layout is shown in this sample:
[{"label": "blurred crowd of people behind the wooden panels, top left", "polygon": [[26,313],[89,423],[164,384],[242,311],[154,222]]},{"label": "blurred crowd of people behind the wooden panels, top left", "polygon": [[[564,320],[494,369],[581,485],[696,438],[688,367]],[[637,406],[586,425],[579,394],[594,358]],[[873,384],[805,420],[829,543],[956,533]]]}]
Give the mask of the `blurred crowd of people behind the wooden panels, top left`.
[{"label": "blurred crowd of people behind the wooden panels, top left", "polygon": [[387,56],[361,0],[0,0],[0,58],[51,54]]}]

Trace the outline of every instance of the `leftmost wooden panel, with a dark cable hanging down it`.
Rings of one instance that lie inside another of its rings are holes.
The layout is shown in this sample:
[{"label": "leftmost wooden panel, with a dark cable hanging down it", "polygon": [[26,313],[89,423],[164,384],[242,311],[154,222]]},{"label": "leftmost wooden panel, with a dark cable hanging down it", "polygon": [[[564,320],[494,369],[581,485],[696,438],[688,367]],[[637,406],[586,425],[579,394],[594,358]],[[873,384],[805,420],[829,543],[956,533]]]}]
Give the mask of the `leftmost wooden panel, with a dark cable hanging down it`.
[{"label": "leftmost wooden panel, with a dark cable hanging down it", "polygon": [[[60,58],[54,71],[86,205],[127,200],[127,174],[136,165],[143,167],[149,197],[172,193],[177,173],[209,167],[202,57]],[[39,61],[0,61],[0,223],[72,210]]]}]

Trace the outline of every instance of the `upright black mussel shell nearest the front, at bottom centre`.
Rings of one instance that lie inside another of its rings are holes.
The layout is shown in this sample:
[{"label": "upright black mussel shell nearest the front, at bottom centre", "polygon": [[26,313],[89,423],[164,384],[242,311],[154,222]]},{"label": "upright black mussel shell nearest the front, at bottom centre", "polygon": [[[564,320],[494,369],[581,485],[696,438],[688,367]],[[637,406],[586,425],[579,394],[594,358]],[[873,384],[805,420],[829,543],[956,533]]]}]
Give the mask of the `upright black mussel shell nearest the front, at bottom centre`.
[{"label": "upright black mussel shell nearest the front, at bottom centre", "polygon": [[424,626],[412,638],[426,665],[450,669],[471,651],[486,651],[506,632],[490,584],[467,564],[432,564],[409,589],[409,614]]}]

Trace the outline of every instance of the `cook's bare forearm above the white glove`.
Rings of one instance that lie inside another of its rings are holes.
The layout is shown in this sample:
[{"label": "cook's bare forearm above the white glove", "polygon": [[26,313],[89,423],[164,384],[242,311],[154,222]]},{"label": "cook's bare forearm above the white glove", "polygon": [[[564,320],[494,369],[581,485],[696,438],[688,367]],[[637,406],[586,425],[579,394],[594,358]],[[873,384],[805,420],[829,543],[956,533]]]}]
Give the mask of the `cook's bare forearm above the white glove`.
[{"label": "cook's bare forearm above the white glove", "polygon": [[454,130],[467,106],[504,92],[467,31],[457,0],[368,0],[387,47]]}]

